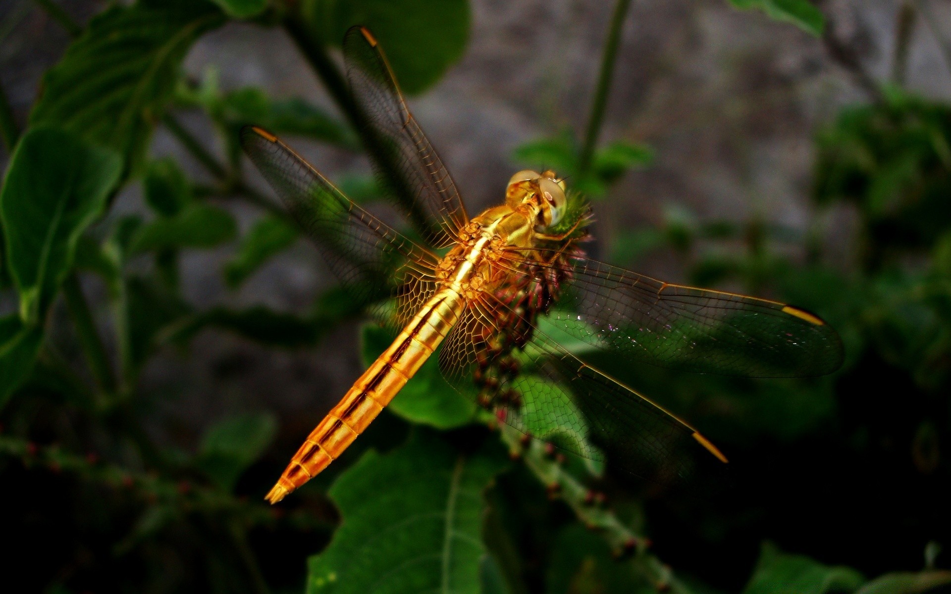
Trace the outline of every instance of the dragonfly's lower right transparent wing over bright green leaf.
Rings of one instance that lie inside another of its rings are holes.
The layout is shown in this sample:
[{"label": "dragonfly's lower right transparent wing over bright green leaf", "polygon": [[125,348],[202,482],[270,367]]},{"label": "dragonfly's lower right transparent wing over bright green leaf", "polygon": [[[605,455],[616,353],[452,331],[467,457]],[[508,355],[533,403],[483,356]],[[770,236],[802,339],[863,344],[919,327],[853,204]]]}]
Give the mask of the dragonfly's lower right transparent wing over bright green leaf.
[{"label": "dragonfly's lower right transparent wing over bright green leaf", "polygon": [[[727,459],[703,435],[537,328],[520,346],[516,339],[511,360],[493,353],[495,320],[517,315],[483,295],[447,336],[440,369],[460,393],[517,431],[585,458],[607,454],[618,468],[656,484],[718,477]],[[475,389],[460,384],[466,376],[476,378]]]}]

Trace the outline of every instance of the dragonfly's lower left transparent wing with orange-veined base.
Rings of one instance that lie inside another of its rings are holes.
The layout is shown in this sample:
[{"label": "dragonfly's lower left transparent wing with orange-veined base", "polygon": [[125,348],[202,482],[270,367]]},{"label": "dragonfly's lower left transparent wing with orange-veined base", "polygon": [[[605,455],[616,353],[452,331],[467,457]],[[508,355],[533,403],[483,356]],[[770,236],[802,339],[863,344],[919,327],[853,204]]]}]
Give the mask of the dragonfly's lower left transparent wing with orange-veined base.
[{"label": "dragonfly's lower left transparent wing with orange-veined base", "polygon": [[245,126],[241,141],[359,305],[396,296],[396,323],[408,321],[435,291],[437,258],[350,201],[269,132]]}]

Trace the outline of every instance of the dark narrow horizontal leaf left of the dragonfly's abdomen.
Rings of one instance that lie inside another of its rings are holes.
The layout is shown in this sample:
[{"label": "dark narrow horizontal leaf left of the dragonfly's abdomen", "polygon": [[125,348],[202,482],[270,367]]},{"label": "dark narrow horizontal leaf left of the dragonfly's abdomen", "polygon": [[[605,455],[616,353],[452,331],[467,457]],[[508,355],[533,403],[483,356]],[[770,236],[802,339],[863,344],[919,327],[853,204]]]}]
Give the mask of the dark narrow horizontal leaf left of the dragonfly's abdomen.
[{"label": "dark narrow horizontal leaf left of the dragonfly's abdomen", "polygon": [[175,342],[188,341],[209,327],[228,330],[271,347],[283,348],[313,346],[326,332],[325,326],[312,320],[275,312],[258,305],[243,310],[212,308],[184,320],[166,338]]}]

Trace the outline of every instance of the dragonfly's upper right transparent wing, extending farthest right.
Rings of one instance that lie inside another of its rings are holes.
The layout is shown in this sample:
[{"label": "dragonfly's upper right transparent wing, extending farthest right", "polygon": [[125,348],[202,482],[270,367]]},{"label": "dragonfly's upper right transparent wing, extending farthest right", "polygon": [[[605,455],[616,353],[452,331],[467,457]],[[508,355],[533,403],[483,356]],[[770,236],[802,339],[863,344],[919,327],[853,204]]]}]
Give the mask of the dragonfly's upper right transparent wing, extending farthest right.
[{"label": "dragonfly's upper right transparent wing, extending farthest right", "polygon": [[[561,266],[517,254],[509,261],[522,270]],[[835,331],[786,303],[670,284],[592,259],[562,267],[549,318],[595,347],[663,367],[752,377],[822,375],[842,365]]]}]

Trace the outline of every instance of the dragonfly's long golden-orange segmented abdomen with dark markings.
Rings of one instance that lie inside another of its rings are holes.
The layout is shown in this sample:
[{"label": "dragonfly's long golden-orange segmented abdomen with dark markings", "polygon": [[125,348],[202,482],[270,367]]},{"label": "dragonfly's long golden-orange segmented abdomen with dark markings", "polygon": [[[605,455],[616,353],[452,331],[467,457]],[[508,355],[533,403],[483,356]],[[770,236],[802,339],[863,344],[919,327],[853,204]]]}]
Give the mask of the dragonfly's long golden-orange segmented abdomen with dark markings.
[{"label": "dragonfly's long golden-orange segmented abdomen with dark markings", "polygon": [[311,431],[265,499],[272,504],[281,501],[339,458],[436,351],[463,307],[462,298],[451,288],[431,297]]}]

